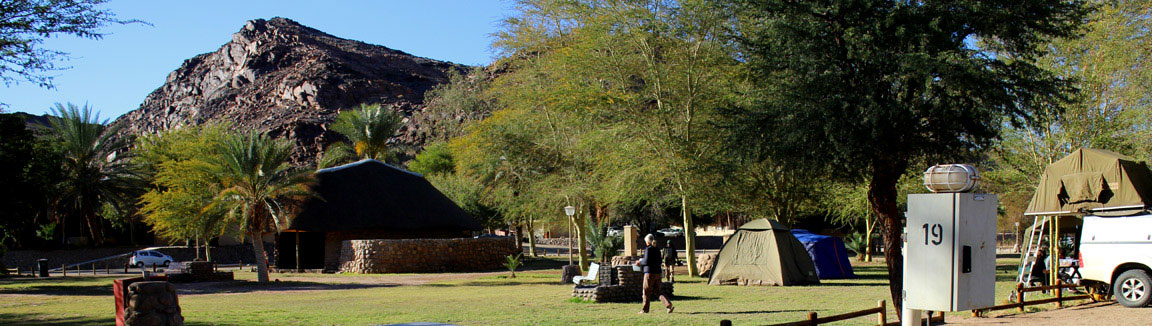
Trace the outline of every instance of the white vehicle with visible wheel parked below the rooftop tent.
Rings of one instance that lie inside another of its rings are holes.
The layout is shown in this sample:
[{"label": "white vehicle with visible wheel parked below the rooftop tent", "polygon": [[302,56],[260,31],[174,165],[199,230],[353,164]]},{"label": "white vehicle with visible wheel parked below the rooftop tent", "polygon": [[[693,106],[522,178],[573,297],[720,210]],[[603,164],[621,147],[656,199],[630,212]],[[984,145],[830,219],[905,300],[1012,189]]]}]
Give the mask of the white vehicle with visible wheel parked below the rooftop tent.
[{"label": "white vehicle with visible wheel parked below the rooftop tent", "polygon": [[1084,217],[1081,283],[1111,290],[1124,306],[1152,302],[1152,214]]}]

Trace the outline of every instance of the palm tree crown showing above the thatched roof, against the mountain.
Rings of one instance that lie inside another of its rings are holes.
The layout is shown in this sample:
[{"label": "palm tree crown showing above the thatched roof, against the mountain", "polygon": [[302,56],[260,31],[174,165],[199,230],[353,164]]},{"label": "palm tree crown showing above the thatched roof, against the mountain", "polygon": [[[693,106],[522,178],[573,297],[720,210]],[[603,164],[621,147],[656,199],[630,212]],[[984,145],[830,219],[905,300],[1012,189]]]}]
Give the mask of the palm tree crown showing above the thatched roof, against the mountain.
[{"label": "palm tree crown showing above the thatched roof, against the mountain", "polygon": [[355,109],[341,112],[332,123],[332,130],[348,138],[324,151],[319,167],[344,164],[358,159],[374,159],[392,162],[395,158],[388,147],[388,138],[403,126],[403,116],[379,104],[362,104]]}]

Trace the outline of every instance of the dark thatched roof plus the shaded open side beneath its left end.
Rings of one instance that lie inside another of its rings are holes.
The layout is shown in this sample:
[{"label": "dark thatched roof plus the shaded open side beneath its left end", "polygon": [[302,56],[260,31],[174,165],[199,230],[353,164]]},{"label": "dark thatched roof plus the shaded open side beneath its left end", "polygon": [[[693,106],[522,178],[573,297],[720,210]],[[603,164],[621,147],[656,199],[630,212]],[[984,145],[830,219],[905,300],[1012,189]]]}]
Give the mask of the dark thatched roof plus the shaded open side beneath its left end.
[{"label": "dark thatched roof plus the shaded open side beneath its left end", "polygon": [[311,190],[316,196],[278,238],[280,268],[335,270],[344,240],[469,237],[480,229],[423,175],[378,160],[320,169]]}]

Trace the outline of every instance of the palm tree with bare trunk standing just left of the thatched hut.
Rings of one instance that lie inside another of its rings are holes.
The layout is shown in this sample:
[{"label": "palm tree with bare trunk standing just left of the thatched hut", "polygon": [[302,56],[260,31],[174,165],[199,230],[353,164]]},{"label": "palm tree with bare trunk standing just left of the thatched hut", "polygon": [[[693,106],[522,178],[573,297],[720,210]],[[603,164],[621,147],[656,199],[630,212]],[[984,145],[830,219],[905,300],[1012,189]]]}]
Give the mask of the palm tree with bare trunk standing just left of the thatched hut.
[{"label": "palm tree with bare trunk standing just left of the thatched hut", "polygon": [[230,135],[220,142],[220,156],[212,159],[212,173],[223,189],[217,205],[228,210],[228,219],[252,240],[259,282],[268,281],[264,235],[287,226],[289,202],[308,196],[311,174],[288,166],[291,144],[263,134]]}]

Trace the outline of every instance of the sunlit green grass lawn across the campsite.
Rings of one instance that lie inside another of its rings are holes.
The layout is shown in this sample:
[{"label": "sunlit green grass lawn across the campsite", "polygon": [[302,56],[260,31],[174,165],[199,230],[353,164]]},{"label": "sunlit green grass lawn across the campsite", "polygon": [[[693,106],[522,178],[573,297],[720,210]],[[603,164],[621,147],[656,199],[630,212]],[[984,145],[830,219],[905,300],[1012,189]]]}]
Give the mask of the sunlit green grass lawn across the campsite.
[{"label": "sunlit green grass lawn across the campsite", "polygon": [[[1002,259],[1001,264],[1014,264]],[[550,263],[550,261],[544,261]],[[554,263],[554,261],[553,261]],[[543,266],[536,261],[530,266]],[[554,265],[554,264],[553,264]],[[856,264],[858,279],[827,280],[808,287],[707,286],[706,279],[677,278],[676,312],[637,314],[638,303],[571,302],[571,286],[559,285],[559,271],[505,275],[464,275],[419,286],[350,283],[347,275],[273,274],[271,286],[236,282],[185,290],[180,305],[189,325],[376,325],[435,321],[460,325],[764,325],[873,308],[889,301],[882,263]],[[1007,297],[1015,274],[998,272],[996,300]],[[370,275],[371,276],[371,275]],[[249,272],[238,279],[252,280]],[[112,279],[0,279],[0,325],[109,325]],[[1051,306],[1051,305],[1044,305]],[[1010,313],[1010,311],[1008,311]],[[967,316],[956,312],[955,316]],[[869,325],[874,317],[842,325]]]}]

